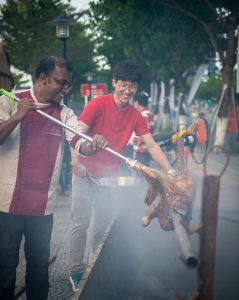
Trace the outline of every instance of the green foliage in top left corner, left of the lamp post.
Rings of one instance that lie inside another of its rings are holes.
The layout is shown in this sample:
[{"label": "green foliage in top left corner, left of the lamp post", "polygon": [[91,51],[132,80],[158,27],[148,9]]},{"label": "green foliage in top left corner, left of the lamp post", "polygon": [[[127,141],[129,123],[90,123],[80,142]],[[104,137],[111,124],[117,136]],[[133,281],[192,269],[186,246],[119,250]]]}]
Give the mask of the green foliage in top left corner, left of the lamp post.
[{"label": "green foliage in top left corner, left of the lamp post", "polygon": [[58,0],[6,1],[1,8],[0,30],[15,67],[32,75],[40,57],[59,54],[55,32],[46,23],[64,9]]}]

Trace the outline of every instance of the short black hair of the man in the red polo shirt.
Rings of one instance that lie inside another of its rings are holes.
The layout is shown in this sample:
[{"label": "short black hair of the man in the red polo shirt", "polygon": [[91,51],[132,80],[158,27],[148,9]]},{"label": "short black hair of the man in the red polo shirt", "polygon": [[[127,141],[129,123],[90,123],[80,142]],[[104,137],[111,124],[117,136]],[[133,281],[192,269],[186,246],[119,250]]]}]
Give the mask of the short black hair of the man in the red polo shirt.
[{"label": "short black hair of the man in the red polo shirt", "polygon": [[132,60],[124,60],[118,62],[113,69],[113,79],[140,82],[142,79],[142,73],[138,65]]}]

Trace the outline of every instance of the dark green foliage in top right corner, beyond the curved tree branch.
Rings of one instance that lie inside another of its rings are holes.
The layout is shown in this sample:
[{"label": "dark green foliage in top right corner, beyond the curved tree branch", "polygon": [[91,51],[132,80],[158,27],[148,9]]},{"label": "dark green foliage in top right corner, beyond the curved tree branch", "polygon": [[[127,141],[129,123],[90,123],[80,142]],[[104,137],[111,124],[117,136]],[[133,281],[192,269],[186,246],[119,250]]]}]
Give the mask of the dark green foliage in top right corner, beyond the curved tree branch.
[{"label": "dark green foliage in top right corner, beyond the curved tree branch", "polygon": [[239,25],[238,1],[160,0],[160,2],[198,23],[201,30],[207,34],[207,38],[214,51],[219,55],[221,63],[226,58],[228,51],[232,51],[233,54],[236,53],[234,45],[228,49],[228,42],[230,39],[236,41]]}]

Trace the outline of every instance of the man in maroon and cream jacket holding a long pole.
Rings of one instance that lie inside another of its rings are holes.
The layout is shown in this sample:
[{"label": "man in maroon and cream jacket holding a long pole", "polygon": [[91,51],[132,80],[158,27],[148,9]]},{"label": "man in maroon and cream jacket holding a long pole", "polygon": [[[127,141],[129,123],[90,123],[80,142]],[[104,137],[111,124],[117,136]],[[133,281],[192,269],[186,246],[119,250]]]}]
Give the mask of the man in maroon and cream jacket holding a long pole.
[{"label": "man in maroon and cream jacket holding a long pole", "polygon": [[0,97],[0,299],[15,299],[23,235],[27,299],[47,299],[52,211],[64,136],[76,152],[84,155],[107,146],[99,135],[89,145],[34,111],[40,109],[81,130],[77,116],[61,104],[71,83],[70,65],[50,56],[38,64],[33,88],[16,93],[19,103]]}]

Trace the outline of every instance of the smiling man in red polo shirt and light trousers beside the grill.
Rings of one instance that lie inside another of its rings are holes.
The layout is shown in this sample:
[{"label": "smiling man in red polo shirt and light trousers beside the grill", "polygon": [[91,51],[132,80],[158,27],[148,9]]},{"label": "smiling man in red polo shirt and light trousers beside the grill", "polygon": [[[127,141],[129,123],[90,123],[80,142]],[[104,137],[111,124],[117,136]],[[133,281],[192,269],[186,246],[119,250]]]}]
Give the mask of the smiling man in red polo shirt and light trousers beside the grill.
[{"label": "smiling man in red polo shirt and light trousers beside the grill", "polygon": [[[152,157],[166,171],[172,168],[155,143],[150,130],[141,114],[130,104],[135,96],[141,72],[132,61],[118,63],[113,70],[112,85],[114,92],[92,99],[80,114],[80,126],[89,135],[103,134],[110,148],[123,153],[133,131],[147,145]],[[80,162],[80,164],[79,164]],[[98,186],[92,187],[88,175],[95,178],[116,176],[120,161],[106,151],[99,151],[93,157],[72,154],[72,229],[70,236],[70,281],[76,291],[85,271],[83,262],[87,229],[94,208],[94,227],[92,250],[100,242],[107,225],[112,218],[112,196],[109,190]]]}]

